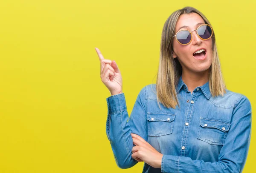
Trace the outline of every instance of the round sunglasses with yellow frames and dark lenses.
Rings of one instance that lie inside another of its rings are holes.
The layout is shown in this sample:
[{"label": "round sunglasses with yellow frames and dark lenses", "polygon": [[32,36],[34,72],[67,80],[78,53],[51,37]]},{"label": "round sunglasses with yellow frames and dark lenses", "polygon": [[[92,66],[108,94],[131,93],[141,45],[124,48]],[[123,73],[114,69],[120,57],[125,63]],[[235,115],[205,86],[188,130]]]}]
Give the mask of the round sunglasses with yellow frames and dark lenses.
[{"label": "round sunglasses with yellow frames and dark lenses", "polygon": [[[201,26],[198,26],[197,29],[192,30],[196,31],[198,34],[198,37],[200,37],[202,40],[208,40],[212,37],[212,26],[209,26],[208,24],[203,24]],[[175,36],[176,40],[182,44],[182,45],[188,45],[192,40],[192,31],[189,31],[187,29],[180,30],[176,33]]]}]

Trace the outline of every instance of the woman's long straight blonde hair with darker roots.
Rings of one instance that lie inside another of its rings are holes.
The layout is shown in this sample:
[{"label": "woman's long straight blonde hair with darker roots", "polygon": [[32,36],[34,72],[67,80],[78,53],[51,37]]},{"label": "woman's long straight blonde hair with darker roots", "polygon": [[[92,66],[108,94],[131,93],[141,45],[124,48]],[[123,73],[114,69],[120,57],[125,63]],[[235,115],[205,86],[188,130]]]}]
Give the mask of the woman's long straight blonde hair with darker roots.
[{"label": "woman's long straight blonde hair with darker roots", "polygon": [[[177,58],[172,57],[172,42],[175,39],[175,26],[181,14],[199,14],[204,22],[211,26],[209,20],[200,11],[193,7],[184,7],[173,12],[163,26],[161,45],[160,45],[160,60],[157,73],[157,103],[160,108],[161,102],[167,108],[175,108],[179,105],[176,93],[178,80],[182,73],[180,62]],[[226,93],[226,85],[221,73],[221,65],[218,58],[217,47],[215,43],[215,34],[212,34],[212,64],[209,68],[209,89],[212,96],[224,95]]]}]

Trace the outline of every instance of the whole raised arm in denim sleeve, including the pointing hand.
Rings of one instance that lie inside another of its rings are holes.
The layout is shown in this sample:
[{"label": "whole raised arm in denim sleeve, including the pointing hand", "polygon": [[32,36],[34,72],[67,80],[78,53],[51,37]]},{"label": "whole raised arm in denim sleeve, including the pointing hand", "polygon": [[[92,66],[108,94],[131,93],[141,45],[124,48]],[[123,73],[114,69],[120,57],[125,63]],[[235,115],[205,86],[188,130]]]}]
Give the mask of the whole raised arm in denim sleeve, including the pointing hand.
[{"label": "whole raised arm in denim sleeve, including the pointing hand", "polygon": [[122,92],[121,72],[114,60],[104,59],[99,49],[95,48],[95,50],[100,61],[100,77],[111,93],[106,99],[108,104],[106,134],[118,167],[129,168],[137,162],[142,162],[141,159],[131,157],[134,147],[131,133],[139,134],[147,140],[145,87],[138,94],[129,119],[125,95]]}]

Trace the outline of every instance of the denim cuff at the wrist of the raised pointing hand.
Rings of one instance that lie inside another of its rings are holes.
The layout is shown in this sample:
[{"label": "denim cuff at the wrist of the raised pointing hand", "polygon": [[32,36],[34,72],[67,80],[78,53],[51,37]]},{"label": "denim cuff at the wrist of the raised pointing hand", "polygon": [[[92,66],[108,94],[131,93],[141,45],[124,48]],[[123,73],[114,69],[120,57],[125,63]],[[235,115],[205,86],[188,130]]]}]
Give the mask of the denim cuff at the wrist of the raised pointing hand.
[{"label": "denim cuff at the wrist of the raised pointing hand", "polygon": [[120,112],[126,109],[125,94],[116,94],[109,96],[107,99],[108,115]]}]

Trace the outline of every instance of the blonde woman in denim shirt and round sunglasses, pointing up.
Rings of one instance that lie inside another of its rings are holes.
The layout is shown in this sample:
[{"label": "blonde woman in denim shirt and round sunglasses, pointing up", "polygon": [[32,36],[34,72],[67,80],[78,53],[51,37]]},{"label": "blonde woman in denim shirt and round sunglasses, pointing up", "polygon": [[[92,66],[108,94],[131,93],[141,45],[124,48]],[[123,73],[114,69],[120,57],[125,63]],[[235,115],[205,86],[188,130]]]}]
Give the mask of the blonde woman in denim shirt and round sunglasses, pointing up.
[{"label": "blonde woman in denim shirt and round sunglasses, pointing up", "polygon": [[145,162],[143,173],[242,172],[251,105],[227,90],[204,14],[185,7],[166,20],[157,82],[142,88],[130,117],[116,62],[96,51],[111,92],[106,133],[120,168]]}]

